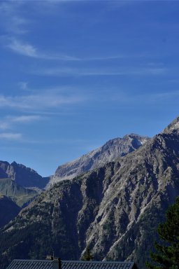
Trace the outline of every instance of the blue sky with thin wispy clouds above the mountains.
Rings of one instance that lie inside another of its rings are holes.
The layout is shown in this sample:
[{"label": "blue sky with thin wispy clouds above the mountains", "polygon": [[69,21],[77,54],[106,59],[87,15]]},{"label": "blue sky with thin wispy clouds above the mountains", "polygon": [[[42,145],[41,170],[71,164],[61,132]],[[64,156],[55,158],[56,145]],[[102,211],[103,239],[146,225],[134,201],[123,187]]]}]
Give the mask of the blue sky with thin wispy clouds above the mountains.
[{"label": "blue sky with thin wispy clouds above the mountains", "polygon": [[43,177],[177,116],[179,1],[0,0],[0,160]]}]

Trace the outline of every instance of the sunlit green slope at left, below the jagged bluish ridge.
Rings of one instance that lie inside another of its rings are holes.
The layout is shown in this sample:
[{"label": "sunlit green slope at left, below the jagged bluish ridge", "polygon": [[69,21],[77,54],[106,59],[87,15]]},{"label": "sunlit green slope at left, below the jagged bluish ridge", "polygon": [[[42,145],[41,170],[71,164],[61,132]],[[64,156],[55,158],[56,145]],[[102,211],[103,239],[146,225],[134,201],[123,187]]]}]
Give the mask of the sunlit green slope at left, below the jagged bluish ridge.
[{"label": "sunlit green slope at left, below the jagged bluish ridge", "polygon": [[38,195],[37,191],[24,188],[12,179],[0,179],[0,193],[10,198],[18,207],[27,205]]}]

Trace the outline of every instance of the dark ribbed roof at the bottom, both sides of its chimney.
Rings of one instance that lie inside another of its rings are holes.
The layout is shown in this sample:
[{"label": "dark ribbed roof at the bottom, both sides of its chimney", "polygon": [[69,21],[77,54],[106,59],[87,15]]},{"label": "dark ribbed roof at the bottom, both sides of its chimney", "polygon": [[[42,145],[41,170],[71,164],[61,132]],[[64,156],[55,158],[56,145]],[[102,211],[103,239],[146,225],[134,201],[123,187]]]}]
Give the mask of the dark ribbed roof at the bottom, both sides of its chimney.
[{"label": "dark ribbed roof at the bottom, both sides of its chimney", "polygon": [[[55,269],[58,261],[13,260],[7,269]],[[62,269],[134,269],[133,262],[121,261],[62,261]]]}]

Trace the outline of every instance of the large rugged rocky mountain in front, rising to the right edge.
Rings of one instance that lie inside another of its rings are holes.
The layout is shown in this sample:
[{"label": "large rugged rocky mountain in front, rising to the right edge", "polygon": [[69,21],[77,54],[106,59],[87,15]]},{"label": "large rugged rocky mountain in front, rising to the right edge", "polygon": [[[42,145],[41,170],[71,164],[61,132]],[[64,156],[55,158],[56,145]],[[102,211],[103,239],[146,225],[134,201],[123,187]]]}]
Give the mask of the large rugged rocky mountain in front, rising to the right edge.
[{"label": "large rugged rocky mountain in front, rising to the right edge", "polygon": [[135,261],[139,269],[157,226],[179,195],[179,118],[127,156],[43,192],[0,232],[1,269],[13,258],[55,251],[76,260]]}]

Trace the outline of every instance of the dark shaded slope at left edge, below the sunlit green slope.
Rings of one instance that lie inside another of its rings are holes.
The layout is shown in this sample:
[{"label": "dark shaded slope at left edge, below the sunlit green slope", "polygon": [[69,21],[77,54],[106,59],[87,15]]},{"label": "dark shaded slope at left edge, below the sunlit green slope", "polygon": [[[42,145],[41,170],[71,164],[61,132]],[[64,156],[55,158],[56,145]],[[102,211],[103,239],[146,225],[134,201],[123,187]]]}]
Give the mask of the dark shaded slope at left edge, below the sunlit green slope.
[{"label": "dark shaded slope at left edge, below the sunlit green slope", "polygon": [[15,218],[19,212],[20,207],[10,200],[10,198],[0,193],[0,227]]}]

